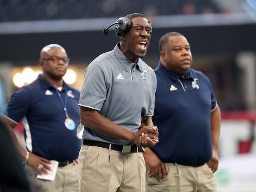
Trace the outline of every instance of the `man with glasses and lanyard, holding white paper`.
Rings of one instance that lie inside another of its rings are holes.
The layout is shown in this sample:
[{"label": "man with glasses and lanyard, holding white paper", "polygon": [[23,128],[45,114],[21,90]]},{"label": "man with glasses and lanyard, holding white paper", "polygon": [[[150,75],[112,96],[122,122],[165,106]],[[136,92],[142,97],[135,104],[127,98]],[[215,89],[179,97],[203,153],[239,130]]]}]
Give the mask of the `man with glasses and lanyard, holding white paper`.
[{"label": "man with glasses and lanyard, holding white paper", "polygon": [[[81,140],[76,137],[76,127],[80,122],[80,92],[62,79],[68,63],[60,45],[44,47],[39,60],[42,74],[12,94],[2,113],[9,128],[23,122],[26,151],[18,147],[27,176],[33,185],[47,192],[79,190],[77,158]],[[54,173],[53,164],[58,164],[55,178],[38,178],[43,172]]]}]

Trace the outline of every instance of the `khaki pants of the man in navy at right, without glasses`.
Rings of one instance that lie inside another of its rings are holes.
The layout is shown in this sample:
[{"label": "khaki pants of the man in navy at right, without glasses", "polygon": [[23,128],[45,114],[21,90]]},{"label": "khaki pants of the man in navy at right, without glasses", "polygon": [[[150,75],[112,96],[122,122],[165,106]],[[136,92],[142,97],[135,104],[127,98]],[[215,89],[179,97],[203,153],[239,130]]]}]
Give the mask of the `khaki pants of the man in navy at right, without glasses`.
[{"label": "khaki pants of the man in navy at right, without glasses", "polygon": [[146,175],[147,192],[217,192],[215,177],[207,164],[200,167],[165,163],[167,177],[159,182],[158,176]]}]

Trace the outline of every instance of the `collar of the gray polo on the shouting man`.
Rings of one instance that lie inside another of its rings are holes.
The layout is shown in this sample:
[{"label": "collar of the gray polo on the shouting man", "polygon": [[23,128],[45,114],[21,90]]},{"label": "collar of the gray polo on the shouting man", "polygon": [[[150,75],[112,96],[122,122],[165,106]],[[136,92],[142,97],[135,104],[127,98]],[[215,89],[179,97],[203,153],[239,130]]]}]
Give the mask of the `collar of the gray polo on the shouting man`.
[{"label": "collar of the gray polo on the shouting man", "polygon": [[[117,60],[120,64],[125,68],[126,71],[134,67],[134,63],[131,62],[120,50],[120,43],[117,43],[114,47],[114,54],[116,55]],[[141,66],[142,60],[141,58],[138,59],[137,65]]]}]

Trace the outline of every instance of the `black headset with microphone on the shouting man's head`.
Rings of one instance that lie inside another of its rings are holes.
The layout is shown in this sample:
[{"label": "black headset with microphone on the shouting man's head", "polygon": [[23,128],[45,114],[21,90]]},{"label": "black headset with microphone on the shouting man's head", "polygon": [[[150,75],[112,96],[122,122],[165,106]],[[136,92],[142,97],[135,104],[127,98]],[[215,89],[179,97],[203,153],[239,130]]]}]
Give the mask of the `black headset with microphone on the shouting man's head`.
[{"label": "black headset with microphone on the shouting man's head", "polygon": [[[148,24],[150,26],[150,33],[152,33],[152,26],[149,20],[148,20]],[[108,28],[110,28],[113,25],[116,25],[114,28],[116,32],[116,36],[120,36],[121,32],[126,33],[131,29],[131,20],[128,19],[127,17],[120,17],[116,21],[116,23],[111,24],[110,26],[108,26],[103,30],[104,35],[108,34]]]}]

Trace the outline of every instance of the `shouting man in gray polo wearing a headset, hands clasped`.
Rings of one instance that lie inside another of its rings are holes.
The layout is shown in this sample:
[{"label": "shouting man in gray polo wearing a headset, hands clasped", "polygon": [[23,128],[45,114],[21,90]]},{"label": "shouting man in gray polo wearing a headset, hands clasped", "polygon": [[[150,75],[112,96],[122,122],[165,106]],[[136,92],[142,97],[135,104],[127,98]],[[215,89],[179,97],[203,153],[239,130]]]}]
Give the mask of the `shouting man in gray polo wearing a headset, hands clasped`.
[{"label": "shouting man in gray polo wearing a headset, hands clasped", "polygon": [[141,152],[158,143],[151,119],[156,76],[141,60],[149,46],[151,23],[141,14],[131,14],[115,25],[120,43],[89,64],[81,89],[80,192],[144,192]]}]

